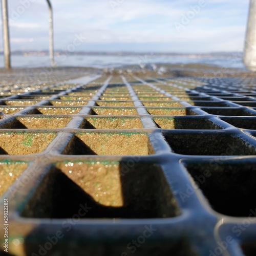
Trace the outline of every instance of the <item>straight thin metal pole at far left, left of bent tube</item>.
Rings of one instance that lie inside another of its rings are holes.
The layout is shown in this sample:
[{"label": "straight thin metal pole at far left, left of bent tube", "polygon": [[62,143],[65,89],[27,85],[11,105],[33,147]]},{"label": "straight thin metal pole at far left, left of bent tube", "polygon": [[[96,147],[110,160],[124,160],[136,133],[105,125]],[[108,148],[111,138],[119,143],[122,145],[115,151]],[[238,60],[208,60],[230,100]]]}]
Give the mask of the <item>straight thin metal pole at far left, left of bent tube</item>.
[{"label": "straight thin metal pole at far left, left of bent tube", "polygon": [[3,23],[5,67],[6,67],[6,69],[10,69],[11,68],[11,58],[10,58],[10,37],[9,37],[7,0],[2,0],[2,23]]}]

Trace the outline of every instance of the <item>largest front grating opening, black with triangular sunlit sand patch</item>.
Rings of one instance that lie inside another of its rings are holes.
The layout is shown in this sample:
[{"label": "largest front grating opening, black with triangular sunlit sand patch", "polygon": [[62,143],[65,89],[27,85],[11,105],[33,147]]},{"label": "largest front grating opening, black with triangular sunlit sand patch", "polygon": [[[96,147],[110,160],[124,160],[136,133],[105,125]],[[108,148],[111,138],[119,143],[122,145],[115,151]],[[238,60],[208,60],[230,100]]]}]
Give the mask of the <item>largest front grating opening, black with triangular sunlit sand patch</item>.
[{"label": "largest front grating opening, black with triangular sunlit sand patch", "polygon": [[131,161],[53,166],[25,206],[22,216],[71,218],[81,205],[91,207],[83,218],[178,216],[178,206],[161,167]]}]

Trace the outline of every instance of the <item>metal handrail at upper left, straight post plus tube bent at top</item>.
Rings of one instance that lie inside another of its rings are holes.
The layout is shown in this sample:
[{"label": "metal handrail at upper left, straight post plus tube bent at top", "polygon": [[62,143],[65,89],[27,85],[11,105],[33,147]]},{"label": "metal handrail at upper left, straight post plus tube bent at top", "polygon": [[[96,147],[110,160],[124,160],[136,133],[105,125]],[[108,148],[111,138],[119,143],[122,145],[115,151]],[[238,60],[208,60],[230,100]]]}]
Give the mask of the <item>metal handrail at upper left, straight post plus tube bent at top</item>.
[{"label": "metal handrail at upper left, straight post plus tube bent at top", "polygon": [[[49,6],[49,55],[50,62],[52,66],[55,66],[54,62],[54,52],[53,52],[53,10],[50,0],[46,0]],[[7,0],[1,0],[2,2],[2,20],[3,20],[3,42],[4,42],[4,56],[5,56],[5,67],[6,69],[11,68],[11,58],[10,58],[10,33],[9,33],[9,22],[8,22],[8,6]]]}]

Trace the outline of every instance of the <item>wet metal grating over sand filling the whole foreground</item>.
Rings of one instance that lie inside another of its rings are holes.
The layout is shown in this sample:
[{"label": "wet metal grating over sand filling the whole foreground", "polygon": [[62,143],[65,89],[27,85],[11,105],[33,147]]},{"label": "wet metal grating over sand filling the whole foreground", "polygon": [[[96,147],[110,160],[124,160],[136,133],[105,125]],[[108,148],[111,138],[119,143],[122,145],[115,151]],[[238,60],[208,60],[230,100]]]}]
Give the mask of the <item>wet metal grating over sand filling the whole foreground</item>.
[{"label": "wet metal grating over sand filling the whole foreground", "polygon": [[1,86],[9,255],[255,255],[256,80],[96,77]]}]

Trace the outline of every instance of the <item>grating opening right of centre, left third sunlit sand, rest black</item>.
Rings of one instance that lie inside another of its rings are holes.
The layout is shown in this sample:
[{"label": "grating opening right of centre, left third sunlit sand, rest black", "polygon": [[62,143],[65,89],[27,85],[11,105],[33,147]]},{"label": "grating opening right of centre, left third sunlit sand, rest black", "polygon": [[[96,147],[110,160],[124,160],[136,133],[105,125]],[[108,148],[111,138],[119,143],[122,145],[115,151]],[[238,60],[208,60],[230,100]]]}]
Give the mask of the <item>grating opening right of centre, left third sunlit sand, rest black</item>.
[{"label": "grating opening right of centre, left third sunlit sand, rest black", "polygon": [[159,128],[162,129],[186,129],[186,130],[221,130],[214,122],[205,118],[153,118]]}]

